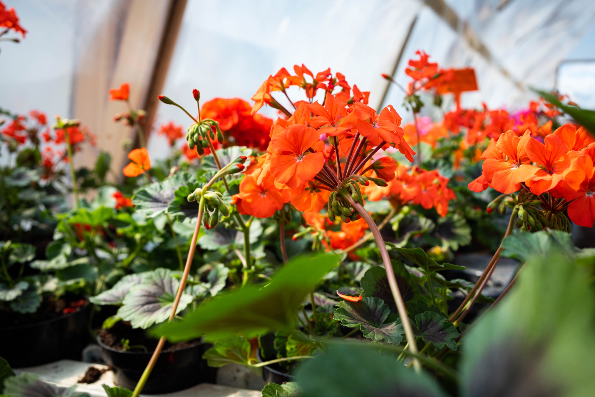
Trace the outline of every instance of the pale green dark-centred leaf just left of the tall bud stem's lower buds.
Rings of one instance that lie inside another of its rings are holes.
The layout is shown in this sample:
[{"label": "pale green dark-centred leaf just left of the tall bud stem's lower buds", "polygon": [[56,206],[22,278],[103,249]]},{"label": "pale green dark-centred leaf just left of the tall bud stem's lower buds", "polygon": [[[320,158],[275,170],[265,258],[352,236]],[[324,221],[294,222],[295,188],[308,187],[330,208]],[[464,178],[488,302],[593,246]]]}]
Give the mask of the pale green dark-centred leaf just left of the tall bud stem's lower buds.
[{"label": "pale green dark-centred leaf just left of the tall bud stem's lower buds", "polygon": [[176,190],[190,183],[196,183],[196,178],[189,172],[179,172],[171,178],[152,183],[134,194],[134,210],[155,218],[167,211],[167,207],[176,199]]}]

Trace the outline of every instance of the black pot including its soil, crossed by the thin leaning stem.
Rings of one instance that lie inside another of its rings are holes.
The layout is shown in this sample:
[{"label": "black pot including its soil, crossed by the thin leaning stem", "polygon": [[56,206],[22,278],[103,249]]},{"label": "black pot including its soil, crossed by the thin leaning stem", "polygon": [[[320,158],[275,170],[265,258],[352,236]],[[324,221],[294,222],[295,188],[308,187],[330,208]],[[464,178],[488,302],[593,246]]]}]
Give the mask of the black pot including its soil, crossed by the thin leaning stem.
[{"label": "black pot including its soil, crossed by the thin leaning stem", "polygon": [[[114,383],[134,389],[158,339],[149,338],[146,330],[133,329],[129,322],[118,322],[111,329],[99,330],[98,342],[105,362],[114,371]],[[177,344],[165,342],[142,393],[171,393],[199,383],[215,383],[217,368],[209,367],[202,358],[209,348],[211,345],[199,339]]]}]

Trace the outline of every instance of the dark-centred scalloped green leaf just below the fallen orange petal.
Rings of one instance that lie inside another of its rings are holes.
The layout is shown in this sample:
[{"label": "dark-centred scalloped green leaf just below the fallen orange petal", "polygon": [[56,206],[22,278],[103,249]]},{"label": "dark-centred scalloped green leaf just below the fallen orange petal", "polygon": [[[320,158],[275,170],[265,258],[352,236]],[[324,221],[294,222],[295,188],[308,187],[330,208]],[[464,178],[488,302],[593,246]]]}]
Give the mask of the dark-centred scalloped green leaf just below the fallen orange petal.
[{"label": "dark-centred scalloped green leaf just below the fallen orange petal", "polygon": [[398,345],[403,340],[402,329],[397,322],[384,324],[389,317],[390,307],[380,298],[363,298],[358,302],[341,301],[337,304],[333,320],[341,321],[346,327],[359,327],[365,338],[372,341],[386,341]]}]

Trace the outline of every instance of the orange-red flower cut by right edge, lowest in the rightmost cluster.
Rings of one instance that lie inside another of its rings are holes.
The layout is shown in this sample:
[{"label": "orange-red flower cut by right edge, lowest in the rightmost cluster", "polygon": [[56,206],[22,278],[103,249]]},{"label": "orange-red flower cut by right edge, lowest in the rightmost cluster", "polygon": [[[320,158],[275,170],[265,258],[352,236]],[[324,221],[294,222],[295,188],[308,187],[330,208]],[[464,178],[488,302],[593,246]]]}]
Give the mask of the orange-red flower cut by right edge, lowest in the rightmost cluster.
[{"label": "orange-red flower cut by right edge, lowest in the rightmost cluster", "polygon": [[568,216],[572,222],[587,228],[593,227],[595,221],[595,168],[593,159],[581,155],[572,160],[566,170],[560,192],[568,206]]}]

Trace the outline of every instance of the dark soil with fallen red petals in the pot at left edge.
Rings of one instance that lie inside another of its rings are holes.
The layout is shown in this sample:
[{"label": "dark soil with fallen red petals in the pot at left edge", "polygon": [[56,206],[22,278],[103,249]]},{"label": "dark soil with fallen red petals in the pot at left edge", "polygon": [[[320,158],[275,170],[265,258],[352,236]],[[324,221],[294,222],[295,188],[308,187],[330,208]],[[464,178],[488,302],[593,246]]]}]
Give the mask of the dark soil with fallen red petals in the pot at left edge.
[{"label": "dark soil with fallen red petals in the pot at left edge", "polygon": [[52,320],[76,313],[89,305],[89,300],[79,295],[62,295],[59,299],[44,297],[35,313],[15,313],[8,302],[0,302],[0,327],[15,327]]}]

